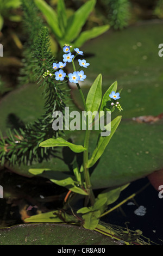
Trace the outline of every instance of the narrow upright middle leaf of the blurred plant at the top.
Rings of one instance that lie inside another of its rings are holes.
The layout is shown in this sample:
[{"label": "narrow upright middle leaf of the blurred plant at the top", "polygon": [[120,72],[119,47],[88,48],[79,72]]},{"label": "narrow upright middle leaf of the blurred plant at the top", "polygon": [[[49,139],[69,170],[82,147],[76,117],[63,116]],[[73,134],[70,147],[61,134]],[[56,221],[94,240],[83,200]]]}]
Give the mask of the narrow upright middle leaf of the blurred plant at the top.
[{"label": "narrow upright middle leaf of the blurred plant at the top", "polygon": [[58,13],[58,23],[61,28],[62,33],[65,33],[65,28],[67,26],[67,16],[64,0],[59,0],[57,4],[57,13]]}]

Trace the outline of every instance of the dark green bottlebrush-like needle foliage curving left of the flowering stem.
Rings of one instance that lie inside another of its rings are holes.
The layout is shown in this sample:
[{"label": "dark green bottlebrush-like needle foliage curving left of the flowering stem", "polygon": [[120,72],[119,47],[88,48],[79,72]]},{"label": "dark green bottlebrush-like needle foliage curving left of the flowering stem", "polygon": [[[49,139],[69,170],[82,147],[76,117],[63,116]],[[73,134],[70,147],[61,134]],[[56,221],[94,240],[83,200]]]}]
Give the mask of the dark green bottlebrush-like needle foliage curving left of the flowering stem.
[{"label": "dark green bottlebrush-like needle foliage curving left of the flowering stem", "polygon": [[10,164],[22,162],[27,164],[28,161],[47,158],[50,154],[48,149],[39,148],[39,144],[49,138],[49,135],[57,137],[57,132],[52,129],[52,114],[54,110],[64,112],[65,95],[58,86],[63,84],[62,82],[57,84],[49,77],[42,81],[43,71],[45,69],[53,70],[52,63],[55,60],[49,50],[49,34],[46,27],[41,28],[32,54],[34,54],[35,59],[34,75],[40,79],[40,86],[43,88],[45,114],[34,123],[25,125],[24,129],[14,129],[12,132],[8,130],[7,138],[1,136],[1,164],[6,161]]}]

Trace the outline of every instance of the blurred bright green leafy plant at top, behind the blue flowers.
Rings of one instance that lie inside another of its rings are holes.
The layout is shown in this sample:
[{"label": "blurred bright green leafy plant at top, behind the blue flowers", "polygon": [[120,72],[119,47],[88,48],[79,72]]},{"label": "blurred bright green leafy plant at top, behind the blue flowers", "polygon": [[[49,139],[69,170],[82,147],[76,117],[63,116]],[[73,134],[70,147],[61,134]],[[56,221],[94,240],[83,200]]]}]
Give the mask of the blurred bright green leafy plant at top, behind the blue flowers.
[{"label": "blurred bright green leafy plant at top, behind the blue flowers", "polygon": [[[96,0],[86,1],[77,11],[74,11],[70,17],[67,17],[64,0],[58,1],[57,11],[44,0],[35,0],[34,2],[45,16],[48,26],[51,28],[51,31],[55,35],[55,40],[57,40],[60,47],[62,47],[65,42],[68,45],[73,45],[74,48],[80,47],[87,40],[96,38],[108,31],[110,27],[109,25],[103,25],[82,31],[87,18],[95,7]],[[67,50],[68,48],[65,46],[64,52],[68,52]]]}]

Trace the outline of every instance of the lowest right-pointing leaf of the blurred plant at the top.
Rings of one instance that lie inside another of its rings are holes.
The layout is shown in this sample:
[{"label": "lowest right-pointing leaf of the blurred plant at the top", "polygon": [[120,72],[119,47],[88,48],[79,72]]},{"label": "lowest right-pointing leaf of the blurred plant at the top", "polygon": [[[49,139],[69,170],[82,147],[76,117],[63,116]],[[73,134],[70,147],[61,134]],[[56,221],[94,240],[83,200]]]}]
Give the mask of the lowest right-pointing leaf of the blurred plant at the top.
[{"label": "lowest right-pointing leaf of the blurred plant at the top", "polygon": [[88,31],[82,32],[77,40],[74,42],[74,47],[80,47],[82,46],[87,40],[96,38],[97,36],[105,33],[110,28],[109,25],[99,26],[99,27],[93,27],[92,29]]}]

